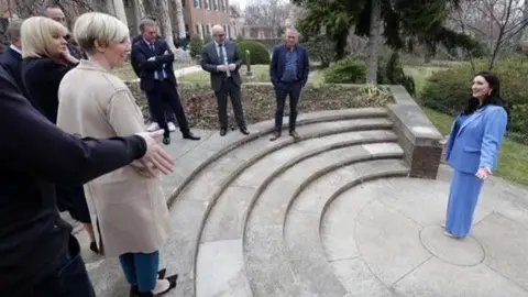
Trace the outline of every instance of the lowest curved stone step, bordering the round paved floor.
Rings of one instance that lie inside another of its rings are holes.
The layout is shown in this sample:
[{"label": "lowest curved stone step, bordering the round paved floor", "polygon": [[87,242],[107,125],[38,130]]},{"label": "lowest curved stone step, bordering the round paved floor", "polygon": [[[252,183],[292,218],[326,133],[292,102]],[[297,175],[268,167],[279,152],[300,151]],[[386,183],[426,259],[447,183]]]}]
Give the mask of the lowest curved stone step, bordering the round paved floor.
[{"label": "lowest curved stone step, bordering the round paved floor", "polygon": [[[372,145],[363,146],[377,150]],[[307,179],[315,179],[312,183],[302,183],[293,197],[284,222],[285,254],[297,280],[315,296],[338,297],[354,294],[341,284],[333,267],[327,262],[319,233],[324,209],[336,197],[361,183],[407,176],[408,173],[408,167],[402,161],[381,160],[332,170],[320,178],[317,177],[324,172],[314,173],[312,177]],[[345,241],[346,238],[338,240]]]}]

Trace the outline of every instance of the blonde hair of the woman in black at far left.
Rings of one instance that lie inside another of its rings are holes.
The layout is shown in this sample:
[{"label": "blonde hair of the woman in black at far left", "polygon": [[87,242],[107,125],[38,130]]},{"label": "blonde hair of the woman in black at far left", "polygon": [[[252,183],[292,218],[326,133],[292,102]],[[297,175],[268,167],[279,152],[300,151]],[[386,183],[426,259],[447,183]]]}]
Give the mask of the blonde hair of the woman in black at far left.
[{"label": "blonde hair of the woman in black at far left", "polygon": [[23,57],[52,57],[48,45],[54,36],[66,36],[68,30],[59,22],[45,16],[32,16],[22,23],[20,35]]}]

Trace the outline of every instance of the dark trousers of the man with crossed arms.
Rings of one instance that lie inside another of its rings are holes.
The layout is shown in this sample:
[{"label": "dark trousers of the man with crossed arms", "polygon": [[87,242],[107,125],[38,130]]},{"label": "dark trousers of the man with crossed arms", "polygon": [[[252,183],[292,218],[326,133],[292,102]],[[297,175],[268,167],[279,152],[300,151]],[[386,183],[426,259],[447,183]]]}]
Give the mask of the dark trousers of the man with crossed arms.
[{"label": "dark trousers of the man with crossed arms", "polygon": [[170,131],[168,131],[167,120],[165,119],[165,105],[168,103],[176,120],[178,121],[179,131],[182,134],[186,135],[189,133],[189,123],[185,117],[184,107],[179,100],[178,90],[173,86],[168,80],[156,80],[154,89],[146,92],[146,98],[148,100],[148,107],[154,113],[154,118],[157,120],[157,124],[165,131],[164,135],[168,136]]}]

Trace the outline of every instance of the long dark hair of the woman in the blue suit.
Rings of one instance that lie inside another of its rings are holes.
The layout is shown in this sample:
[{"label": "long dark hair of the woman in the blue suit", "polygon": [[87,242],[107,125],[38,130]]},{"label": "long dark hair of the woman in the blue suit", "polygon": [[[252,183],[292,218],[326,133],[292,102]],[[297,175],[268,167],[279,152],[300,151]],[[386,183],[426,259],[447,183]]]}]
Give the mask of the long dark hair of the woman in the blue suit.
[{"label": "long dark hair of the woman in the blue suit", "polygon": [[481,100],[479,100],[477,98],[471,97],[470,100],[468,100],[468,106],[465,107],[462,114],[472,114],[479,108],[484,108],[486,106],[498,106],[506,110],[509,122],[509,119],[512,117],[512,106],[501,97],[501,81],[498,80],[498,77],[488,72],[481,72],[477,73],[475,76],[482,76],[490,85],[492,92],[486,98],[484,98],[484,100],[482,100],[482,103]]}]

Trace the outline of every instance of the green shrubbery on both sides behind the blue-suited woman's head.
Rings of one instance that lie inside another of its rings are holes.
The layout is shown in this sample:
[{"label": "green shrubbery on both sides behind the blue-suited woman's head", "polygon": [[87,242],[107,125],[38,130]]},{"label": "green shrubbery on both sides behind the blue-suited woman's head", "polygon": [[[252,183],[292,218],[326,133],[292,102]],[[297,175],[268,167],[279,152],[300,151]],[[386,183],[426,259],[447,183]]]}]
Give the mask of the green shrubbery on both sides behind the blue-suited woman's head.
[{"label": "green shrubbery on both sides behind the blue-suited woman's head", "polygon": [[[501,61],[493,70],[501,79],[501,94],[513,106],[509,131],[515,139],[528,142],[528,62],[512,57]],[[484,70],[487,61],[476,62],[476,70]],[[427,107],[450,116],[458,116],[471,96],[473,70],[469,64],[433,73],[426,81],[421,98]]]}]

